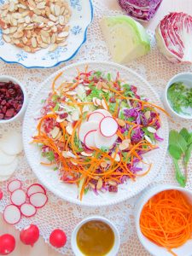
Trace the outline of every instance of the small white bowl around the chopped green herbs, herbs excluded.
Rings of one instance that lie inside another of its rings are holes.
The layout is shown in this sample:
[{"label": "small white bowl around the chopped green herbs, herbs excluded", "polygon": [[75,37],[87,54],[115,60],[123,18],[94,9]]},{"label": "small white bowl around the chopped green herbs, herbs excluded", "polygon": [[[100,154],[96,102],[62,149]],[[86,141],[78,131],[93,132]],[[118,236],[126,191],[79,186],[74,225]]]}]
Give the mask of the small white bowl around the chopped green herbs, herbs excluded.
[{"label": "small white bowl around the chopped green herbs, herbs excluded", "polygon": [[172,115],[172,117],[176,117],[176,118],[179,117],[182,119],[192,119],[192,113],[189,116],[183,113],[177,113],[176,111],[173,110],[172,106],[170,105],[170,102],[168,101],[167,90],[173,83],[177,83],[177,82],[183,82],[189,87],[192,87],[192,73],[178,73],[172,79],[169,80],[168,84],[166,84],[166,90],[163,95],[163,102],[165,104],[166,110],[168,111],[168,113]]}]

